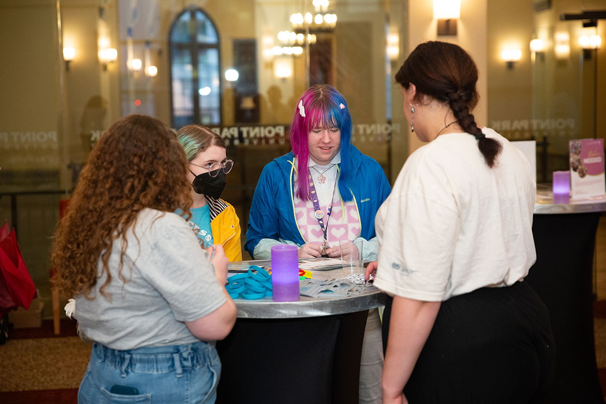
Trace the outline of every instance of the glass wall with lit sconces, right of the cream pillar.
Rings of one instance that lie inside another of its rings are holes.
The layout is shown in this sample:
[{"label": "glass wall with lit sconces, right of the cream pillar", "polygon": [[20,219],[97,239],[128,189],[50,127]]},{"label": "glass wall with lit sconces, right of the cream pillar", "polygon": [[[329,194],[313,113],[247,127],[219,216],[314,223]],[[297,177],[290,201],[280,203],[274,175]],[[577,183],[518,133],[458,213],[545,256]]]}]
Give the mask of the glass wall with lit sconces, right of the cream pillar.
[{"label": "glass wall with lit sconces, right of the cream pillar", "polygon": [[606,137],[598,119],[606,113],[606,8],[599,0],[516,4],[488,2],[488,125],[536,141],[537,180],[551,182],[553,171],[568,170],[570,139]]}]

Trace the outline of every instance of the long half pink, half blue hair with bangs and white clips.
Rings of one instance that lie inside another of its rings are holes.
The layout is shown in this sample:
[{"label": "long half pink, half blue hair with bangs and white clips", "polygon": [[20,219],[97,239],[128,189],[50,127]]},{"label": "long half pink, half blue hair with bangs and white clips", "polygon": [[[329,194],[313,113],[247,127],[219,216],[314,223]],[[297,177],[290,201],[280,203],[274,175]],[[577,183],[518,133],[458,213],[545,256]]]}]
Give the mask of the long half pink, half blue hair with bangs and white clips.
[{"label": "long half pink, half blue hair with bangs and white clips", "polygon": [[[301,116],[299,102],[303,103],[305,116]],[[298,185],[296,194],[299,199],[311,200],[308,179],[309,144],[308,137],[312,128],[336,127],[341,130],[341,171],[339,174],[339,193],[345,202],[352,199],[350,186],[353,180],[353,167],[350,156],[351,133],[353,124],[347,101],[328,84],[318,84],[308,88],[295,107],[293,124],[290,127],[290,143],[297,157]],[[341,108],[343,105],[343,108]]]}]

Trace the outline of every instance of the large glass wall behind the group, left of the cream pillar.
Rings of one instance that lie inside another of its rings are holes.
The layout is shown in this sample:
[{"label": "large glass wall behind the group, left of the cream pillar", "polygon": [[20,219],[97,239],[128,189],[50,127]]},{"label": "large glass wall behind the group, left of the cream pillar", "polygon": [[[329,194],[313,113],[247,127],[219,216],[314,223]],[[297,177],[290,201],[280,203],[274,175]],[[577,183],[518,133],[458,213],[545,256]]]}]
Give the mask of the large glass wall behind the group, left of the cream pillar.
[{"label": "large glass wall behind the group, left of the cream pillar", "polygon": [[235,166],[222,197],[236,208],[242,243],[259,174],[290,151],[296,101],[310,85],[344,94],[353,144],[393,181],[408,154],[392,74],[405,55],[406,8],[406,0],[0,0],[0,49],[11,55],[0,62],[0,212],[16,228],[45,314],[59,200],[121,116],[203,124],[225,139]]}]

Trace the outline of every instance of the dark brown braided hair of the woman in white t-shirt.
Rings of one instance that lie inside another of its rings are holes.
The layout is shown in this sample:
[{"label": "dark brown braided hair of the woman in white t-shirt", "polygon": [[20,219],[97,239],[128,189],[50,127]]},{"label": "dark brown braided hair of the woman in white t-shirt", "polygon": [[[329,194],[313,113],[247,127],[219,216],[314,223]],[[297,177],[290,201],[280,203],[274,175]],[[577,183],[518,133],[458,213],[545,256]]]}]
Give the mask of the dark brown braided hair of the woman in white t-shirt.
[{"label": "dark brown braided hair of the woman in white t-shirt", "polygon": [[488,167],[494,166],[502,145],[486,137],[471,114],[479,99],[478,68],[463,48],[439,41],[420,44],[396,73],[396,81],[406,89],[414,83],[417,96],[425,94],[439,102],[448,102],[459,126],[478,140]]}]

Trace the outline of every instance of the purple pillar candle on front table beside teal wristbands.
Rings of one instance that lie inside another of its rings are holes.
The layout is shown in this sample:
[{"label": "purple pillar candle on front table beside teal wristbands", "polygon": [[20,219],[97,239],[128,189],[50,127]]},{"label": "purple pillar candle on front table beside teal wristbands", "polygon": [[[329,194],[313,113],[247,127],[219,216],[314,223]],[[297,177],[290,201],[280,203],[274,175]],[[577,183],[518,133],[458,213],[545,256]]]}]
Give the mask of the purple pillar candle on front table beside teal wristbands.
[{"label": "purple pillar candle on front table beside teal wristbands", "polygon": [[296,245],[271,247],[271,287],[276,302],[299,300],[299,256]]}]

